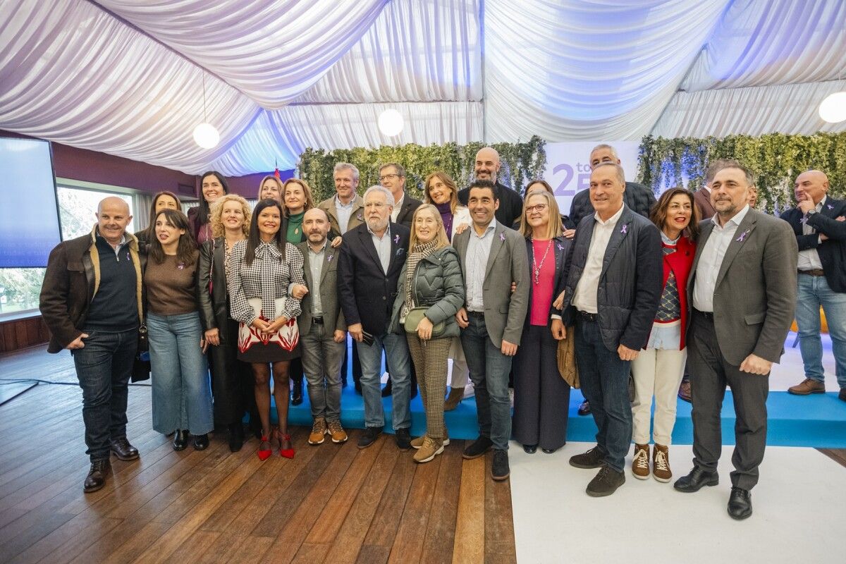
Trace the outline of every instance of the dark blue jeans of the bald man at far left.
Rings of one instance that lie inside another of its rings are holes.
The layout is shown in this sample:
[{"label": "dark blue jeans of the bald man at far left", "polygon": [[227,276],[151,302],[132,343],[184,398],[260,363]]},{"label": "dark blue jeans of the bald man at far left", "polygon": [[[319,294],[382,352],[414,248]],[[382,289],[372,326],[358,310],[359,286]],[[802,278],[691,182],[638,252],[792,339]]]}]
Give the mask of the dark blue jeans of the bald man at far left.
[{"label": "dark blue jeans of the bald man at far left", "polygon": [[85,347],[70,353],[82,388],[85,451],[91,461],[108,458],[109,441],[126,436],[126,400],[138,330],[110,333],[83,329]]}]

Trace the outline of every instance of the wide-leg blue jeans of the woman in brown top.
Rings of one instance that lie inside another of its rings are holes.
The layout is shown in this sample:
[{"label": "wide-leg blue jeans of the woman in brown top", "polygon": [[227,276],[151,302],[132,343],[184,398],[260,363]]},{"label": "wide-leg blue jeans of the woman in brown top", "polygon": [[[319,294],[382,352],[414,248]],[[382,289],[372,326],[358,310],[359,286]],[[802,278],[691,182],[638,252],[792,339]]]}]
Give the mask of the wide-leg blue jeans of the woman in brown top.
[{"label": "wide-leg blue jeans of the woman in brown top", "polygon": [[153,429],[165,435],[180,429],[191,435],[208,433],[214,424],[208,365],[200,348],[200,315],[148,314],[147,329]]}]

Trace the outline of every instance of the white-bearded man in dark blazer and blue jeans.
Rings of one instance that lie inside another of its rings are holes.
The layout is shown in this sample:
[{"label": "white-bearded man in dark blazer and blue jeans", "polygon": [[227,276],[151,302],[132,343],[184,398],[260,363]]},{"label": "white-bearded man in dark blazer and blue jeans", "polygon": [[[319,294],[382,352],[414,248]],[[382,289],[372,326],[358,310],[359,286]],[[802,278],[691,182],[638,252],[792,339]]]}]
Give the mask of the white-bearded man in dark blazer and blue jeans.
[{"label": "white-bearded man in dark blazer and blue jeans", "polygon": [[382,351],[393,377],[393,430],[397,446],[411,448],[409,347],[405,335],[387,331],[397,281],[408,255],[408,227],[391,222],[393,194],[383,186],[365,192],[365,223],[343,235],[338,264],[338,294],[351,337],[358,343],[361,390],[365,398],[365,432],[359,448],[371,446],[382,433],[385,414],[379,376]]}]

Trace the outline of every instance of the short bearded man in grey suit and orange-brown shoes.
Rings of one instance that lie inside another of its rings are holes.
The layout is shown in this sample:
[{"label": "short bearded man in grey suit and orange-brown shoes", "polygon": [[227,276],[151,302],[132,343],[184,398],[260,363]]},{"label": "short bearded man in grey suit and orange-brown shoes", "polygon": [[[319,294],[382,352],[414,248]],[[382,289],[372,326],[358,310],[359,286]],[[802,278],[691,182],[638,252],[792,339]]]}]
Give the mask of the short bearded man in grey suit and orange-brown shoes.
[{"label": "short bearded man in grey suit and orange-brown shoes", "polygon": [[299,342],[314,419],[309,444],[320,445],[324,435],[330,435],[335,443],[346,442],[347,433],[341,426],[341,363],[347,324],[338,302],[338,251],[327,244],[326,211],[306,211],[303,231],[308,239],[297,248],[305,259],[305,286],[294,286],[292,293],[302,299]]}]

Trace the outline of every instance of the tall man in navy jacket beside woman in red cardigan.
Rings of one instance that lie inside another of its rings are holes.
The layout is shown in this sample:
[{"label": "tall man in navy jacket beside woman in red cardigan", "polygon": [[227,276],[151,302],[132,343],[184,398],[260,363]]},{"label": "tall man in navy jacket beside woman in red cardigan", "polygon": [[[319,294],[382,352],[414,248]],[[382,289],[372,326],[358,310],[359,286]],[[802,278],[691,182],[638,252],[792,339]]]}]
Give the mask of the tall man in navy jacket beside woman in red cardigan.
[{"label": "tall man in navy jacket beside woman in red cardigan", "polygon": [[625,190],[623,167],[597,163],[589,191],[596,211],[576,227],[565,268],[563,321],[575,325],[582,392],[598,428],[596,446],[570,464],[600,468],[586,490],[593,497],[610,496],[625,483],[630,365],[649,338],[663,282],[661,234],[624,205]]}]

